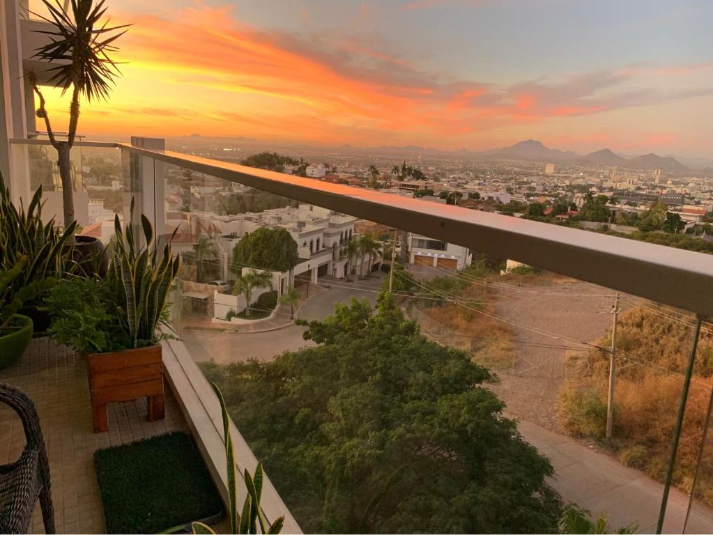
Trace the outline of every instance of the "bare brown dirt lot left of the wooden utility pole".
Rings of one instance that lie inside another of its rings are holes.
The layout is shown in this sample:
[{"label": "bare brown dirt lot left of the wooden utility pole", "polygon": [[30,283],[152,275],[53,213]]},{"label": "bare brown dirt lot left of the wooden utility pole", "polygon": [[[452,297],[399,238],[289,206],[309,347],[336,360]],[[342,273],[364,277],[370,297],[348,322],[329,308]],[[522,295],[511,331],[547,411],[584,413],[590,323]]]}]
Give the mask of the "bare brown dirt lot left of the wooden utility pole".
[{"label": "bare brown dirt lot left of the wooden utility pole", "polygon": [[[506,365],[491,366],[499,381],[490,385],[506,402],[508,416],[529,420],[560,432],[555,413],[558,390],[566,375],[568,351],[581,350],[573,341],[593,342],[611,328],[614,291],[574,279],[551,274],[495,279],[496,284],[509,284],[513,289],[490,289],[488,301],[497,316],[535,331],[562,336],[551,338],[527,328],[507,326],[513,357]],[[477,319],[476,319],[477,321]],[[424,330],[438,329],[424,315],[419,316]],[[463,329],[461,328],[461,331]],[[481,329],[473,326],[473,331]],[[441,343],[467,349],[462,339],[433,336]],[[566,346],[566,347],[562,347]],[[604,358],[604,357],[602,357]],[[514,367],[513,367],[514,365]]]}]

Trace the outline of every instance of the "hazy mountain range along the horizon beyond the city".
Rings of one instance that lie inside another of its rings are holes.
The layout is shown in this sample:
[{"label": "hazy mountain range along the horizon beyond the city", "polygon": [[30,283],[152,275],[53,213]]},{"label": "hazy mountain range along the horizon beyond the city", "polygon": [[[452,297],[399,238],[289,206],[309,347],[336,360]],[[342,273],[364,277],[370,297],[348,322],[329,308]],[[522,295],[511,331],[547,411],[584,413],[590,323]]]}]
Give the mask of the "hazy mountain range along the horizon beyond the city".
[{"label": "hazy mountain range along the horizon beyond the city", "polygon": [[[312,150],[317,147],[304,144],[294,143],[267,143],[260,140],[255,140],[247,137],[202,137],[198,134],[190,136],[174,138],[176,140],[220,140],[222,142],[236,142],[240,145],[270,145],[272,150],[277,150],[279,147],[302,147]],[[279,147],[278,147],[279,145]],[[634,156],[617,154],[616,152],[605,148],[590,152],[587,155],[578,155],[571,150],[558,150],[545,147],[542,142],[537,140],[525,140],[510,145],[509,147],[501,147],[498,149],[471,151],[466,148],[456,151],[438,150],[433,147],[419,147],[417,145],[381,145],[377,147],[355,147],[354,145],[341,145],[339,147],[322,147],[322,149],[334,150],[335,152],[349,152],[364,155],[457,155],[459,157],[469,157],[477,160],[530,160],[536,162],[550,162],[560,165],[618,165],[627,169],[636,170],[655,170],[661,169],[670,172],[689,172],[691,170],[701,170],[713,167],[713,160],[707,158],[679,158],[673,155],[660,156],[653,153]]]}]

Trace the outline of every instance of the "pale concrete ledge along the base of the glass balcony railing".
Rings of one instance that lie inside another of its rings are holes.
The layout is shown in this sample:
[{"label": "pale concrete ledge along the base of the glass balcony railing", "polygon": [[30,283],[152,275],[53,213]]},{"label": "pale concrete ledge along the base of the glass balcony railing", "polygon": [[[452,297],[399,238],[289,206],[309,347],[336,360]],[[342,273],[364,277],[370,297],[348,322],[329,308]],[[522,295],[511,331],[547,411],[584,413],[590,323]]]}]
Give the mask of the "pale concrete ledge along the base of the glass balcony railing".
[{"label": "pale concrete ledge along the base of the glass balcony railing", "polygon": [[[225,462],[225,444],[223,442],[222,415],[220,403],[215,397],[210,384],[198,368],[183,342],[178,340],[164,341],[163,366],[168,385],[183,416],[190,427],[200,453],[210,471],[211,477],[220,492],[222,501],[227,507],[227,464]],[[245,439],[240,435],[235,425],[230,423],[230,433],[235,447],[235,462],[239,472],[237,479],[237,496],[240,504],[247,496],[245,479],[242,472],[247,470],[252,474],[257,467],[257,458],[250,450]],[[274,521],[284,516],[284,534],[302,534],[297,521],[282,502],[277,490],[265,474],[262,483],[262,512],[268,521]]]}]

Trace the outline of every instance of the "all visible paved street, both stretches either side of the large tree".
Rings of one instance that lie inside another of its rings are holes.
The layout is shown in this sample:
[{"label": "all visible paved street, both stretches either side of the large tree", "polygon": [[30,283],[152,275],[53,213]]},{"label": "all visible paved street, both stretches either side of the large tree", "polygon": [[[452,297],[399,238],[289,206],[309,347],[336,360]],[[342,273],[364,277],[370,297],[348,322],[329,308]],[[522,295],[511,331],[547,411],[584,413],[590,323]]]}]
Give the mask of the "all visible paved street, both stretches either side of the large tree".
[{"label": "all visible paved street, both stretches either side of the large tree", "polygon": [[[371,303],[379,281],[359,281],[354,284],[335,282],[305,301],[299,310],[304,319],[324,318],[334,311],[334,303],[349,298],[367,298]],[[312,346],[304,341],[303,327],[289,326],[267,333],[235,334],[185,332],[183,339],[196,360],[230,363],[257,358],[272,360],[286,350]],[[612,526],[631,521],[640,522],[642,533],[655,531],[660,507],[662,485],[635,469],[622,466],[615,459],[580,445],[570,437],[558,435],[526,420],[518,424],[525,440],[550,458],[556,476],[552,484],[563,498],[581,507],[600,513],[606,511]],[[680,533],[687,506],[687,497],[672,489],[665,532]],[[689,520],[688,533],[713,533],[713,513],[697,506]]]}]

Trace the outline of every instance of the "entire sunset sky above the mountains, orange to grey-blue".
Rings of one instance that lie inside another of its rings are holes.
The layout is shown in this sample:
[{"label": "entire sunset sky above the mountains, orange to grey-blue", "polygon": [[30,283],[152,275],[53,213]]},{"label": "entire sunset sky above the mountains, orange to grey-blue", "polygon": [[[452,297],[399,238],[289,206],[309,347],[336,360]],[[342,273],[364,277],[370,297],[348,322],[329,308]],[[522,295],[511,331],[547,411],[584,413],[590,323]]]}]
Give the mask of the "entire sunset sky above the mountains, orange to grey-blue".
[{"label": "entire sunset sky above the mountains, orange to grey-blue", "polygon": [[86,135],[713,157],[711,0],[108,5],[128,63]]}]

